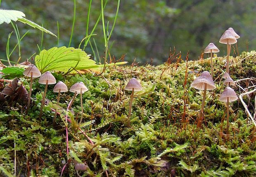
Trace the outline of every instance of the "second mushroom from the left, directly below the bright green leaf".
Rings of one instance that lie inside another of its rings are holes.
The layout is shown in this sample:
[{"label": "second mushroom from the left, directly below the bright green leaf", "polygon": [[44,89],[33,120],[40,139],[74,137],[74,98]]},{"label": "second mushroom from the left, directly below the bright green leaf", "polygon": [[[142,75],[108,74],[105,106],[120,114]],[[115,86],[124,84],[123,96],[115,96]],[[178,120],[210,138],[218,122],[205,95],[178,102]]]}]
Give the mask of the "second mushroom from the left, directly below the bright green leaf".
[{"label": "second mushroom from the left, directly below the bright green leaf", "polygon": [[48,84],[56,84],[56,79],[49,71],[47,71],[43,73],[43,75],[39,78],[38,82],[40,84],[45,85],[45,92],[43,93],[43,100],[42,100],[40,115],[39,115],[39,118],[41,118],[43,114],[43,106],[45,105],[45,96],[46,96],[47,86]]}]

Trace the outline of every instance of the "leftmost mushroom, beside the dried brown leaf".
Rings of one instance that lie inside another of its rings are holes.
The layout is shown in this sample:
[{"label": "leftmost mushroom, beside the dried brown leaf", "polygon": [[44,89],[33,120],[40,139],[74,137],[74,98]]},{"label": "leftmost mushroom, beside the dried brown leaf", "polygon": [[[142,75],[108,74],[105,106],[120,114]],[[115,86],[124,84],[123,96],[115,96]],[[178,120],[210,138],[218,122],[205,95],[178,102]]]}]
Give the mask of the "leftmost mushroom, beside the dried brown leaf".
[{"label": "leftmost mushroom, beside the dried brown leaf", "polygon": [[33,77],[40,77],[41,72],[36,68],[35,65],[29,65],[28,68],[26,68],[24,70],[23,75],[25,75],[26,77],[31,77],[30,87],[29,87],[29,95],[28,95],[28,105],[27,105],[27,110],[26,110],[26,113],[28,113],[28,109],[29,109],[29,106],[30,106],[30,100],[31,100]]}]

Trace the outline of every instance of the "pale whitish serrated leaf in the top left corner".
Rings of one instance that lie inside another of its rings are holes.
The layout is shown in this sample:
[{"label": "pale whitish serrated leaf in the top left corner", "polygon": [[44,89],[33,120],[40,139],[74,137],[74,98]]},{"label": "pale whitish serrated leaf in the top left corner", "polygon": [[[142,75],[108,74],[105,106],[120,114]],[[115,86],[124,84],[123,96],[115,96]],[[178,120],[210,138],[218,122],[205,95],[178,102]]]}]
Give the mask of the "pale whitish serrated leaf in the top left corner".
[{"label": "pale whitish serrated leaf in the top left corner", "polygon": [[23,12],[17,10],[3,10],[0,9],[0,24],[10,23],[11,21],[17,21],[25,16]]}]

